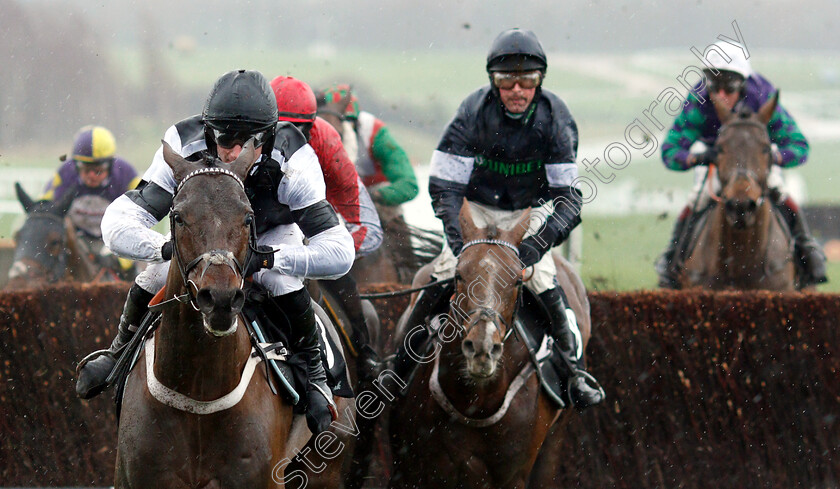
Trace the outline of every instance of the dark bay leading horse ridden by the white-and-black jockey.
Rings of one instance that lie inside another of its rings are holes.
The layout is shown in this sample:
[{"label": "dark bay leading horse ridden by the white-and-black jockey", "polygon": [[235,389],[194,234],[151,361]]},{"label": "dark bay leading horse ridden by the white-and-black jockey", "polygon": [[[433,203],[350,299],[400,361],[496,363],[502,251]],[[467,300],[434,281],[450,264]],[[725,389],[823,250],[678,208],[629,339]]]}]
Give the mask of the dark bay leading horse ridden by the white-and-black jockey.
[{"label": "dark bay leading horse ridden by the white-and-black jockey", "polygon": [[163,309],[128,378],[114,485],[279,487],[292,408],[272,394],[265,368],[254,371],[238,318],[253,220],[242,181],[253,145],[228,169],[188,162],[165,144],[164,159],[179,182],[165,295],[175,305]]}]

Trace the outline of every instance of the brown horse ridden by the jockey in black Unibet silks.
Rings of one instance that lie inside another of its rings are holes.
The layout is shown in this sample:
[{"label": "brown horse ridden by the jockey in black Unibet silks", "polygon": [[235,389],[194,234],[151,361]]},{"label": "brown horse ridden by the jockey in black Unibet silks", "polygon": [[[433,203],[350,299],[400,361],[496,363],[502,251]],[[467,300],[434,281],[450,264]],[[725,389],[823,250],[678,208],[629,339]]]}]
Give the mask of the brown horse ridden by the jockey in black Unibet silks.
[{"label": "brown horse ridden by the jockey in black Unibet silks", "polygon": [[[521,292],[520,262],[512,250],[529,218],[525,212],[511,231],[477,228],[470,206],[462,207],[465,245],[439,346],[390,412],[391,488],[525,488],[550,427],[561,413],[572,414],[542,391],[527,348],[511,329]],[[559,264],[558,279],[585,345],[591,328],[585,290],[568,263]],[[415,285],[427,283],[425,272],[428,267]]]}]

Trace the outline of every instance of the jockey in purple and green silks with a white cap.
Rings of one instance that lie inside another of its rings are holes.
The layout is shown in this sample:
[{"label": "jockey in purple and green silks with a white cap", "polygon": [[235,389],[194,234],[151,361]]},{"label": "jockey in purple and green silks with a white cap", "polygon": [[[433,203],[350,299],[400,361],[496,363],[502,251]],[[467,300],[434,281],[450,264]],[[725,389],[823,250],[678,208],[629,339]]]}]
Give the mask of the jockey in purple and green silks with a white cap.
[{"label": "jockey in purple and green silks with a white cap", "polygon": [[[714,71],[709,68],[703,70],[704,79],[689,92],[685,106],[662,143],[662,162],[666,168],[676,171],[695,168],[695,187],[691,200],[678,216],[673,236],[656,262],[659,285],[665,288],[678,287],[680,260],[677,259],[677,252],[678,247],[683,246],[679,243],[681,236],[690,236],[690,228],[696,221],[691,219],[692,209],[699,212],[708,206],[707,189],[713,188],[715,192],[720,190],[717,174],[709,173],[705,168],[715,162],[715,141],[721,127],[711,97],[716,97],[718,103],[732,111],[749,108],[756,112],[776,93],[776,88],[766,78],[753,71],[748,54],[741,46],[718,42],[708,51],[707,61]],[[787,221],[794,237],[795,254],[803,273],[800,282],[804,286],[826,282],[825,255],[811,236],[802,210],[782,188],[784,181],[781,168],[793,168],[805,163],[809,152],[808,141],[781,104],[776,106],[767,124],[767,131],[772,143],[774,163],[767,184],[776,190],[773,194],[777,198],[773,199],[773,203]],[[696,147],[693,148],[695,143],[702,143],[699,146],[703,148],[698,152],[692,152],[692,149],[697,151]],[[706,178],[710,178],[711,182],[704,185]]]}]

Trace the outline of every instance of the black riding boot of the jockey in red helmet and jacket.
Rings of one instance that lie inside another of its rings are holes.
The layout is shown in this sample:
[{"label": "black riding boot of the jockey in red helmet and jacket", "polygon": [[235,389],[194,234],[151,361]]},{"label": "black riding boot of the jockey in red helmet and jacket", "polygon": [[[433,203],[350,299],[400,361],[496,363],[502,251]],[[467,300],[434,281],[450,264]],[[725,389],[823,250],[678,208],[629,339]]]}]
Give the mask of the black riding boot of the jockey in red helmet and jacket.
[{"label": "black riding boot of the jockey in red helmet and jacket", "polygon": [[370,346],[370,332],[356,281],[348,273],[336,280],[321,281],[320,284],[341,301],[344,312],[350,320],[352,328],[350,341],[353,343],[353,349],[356,350],[356,374],[359,381],[373,381],[379,375],[381,361],[379,355]]}]

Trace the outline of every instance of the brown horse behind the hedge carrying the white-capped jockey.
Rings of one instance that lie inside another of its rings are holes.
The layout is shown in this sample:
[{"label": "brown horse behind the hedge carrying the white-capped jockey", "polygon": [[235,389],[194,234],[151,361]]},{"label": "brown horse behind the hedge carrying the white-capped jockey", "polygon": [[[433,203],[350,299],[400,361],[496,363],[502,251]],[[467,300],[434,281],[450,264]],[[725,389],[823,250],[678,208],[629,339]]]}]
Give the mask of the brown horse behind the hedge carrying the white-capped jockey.
[{"label": "brown horse behind the hedge carrying the white-capped jockey", "polygon": [[682,288],[794,289],[793,240],[774,212],[767,185],[772,165],[767,123],[778,100],[776,93],[756,113],[733,113],[715,103],[721,121],[715,166],[722,190],[712,195],[717,205],[697,231]]}]

